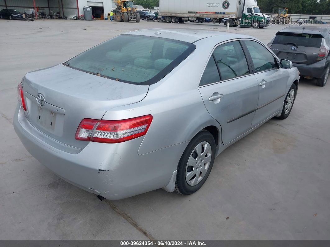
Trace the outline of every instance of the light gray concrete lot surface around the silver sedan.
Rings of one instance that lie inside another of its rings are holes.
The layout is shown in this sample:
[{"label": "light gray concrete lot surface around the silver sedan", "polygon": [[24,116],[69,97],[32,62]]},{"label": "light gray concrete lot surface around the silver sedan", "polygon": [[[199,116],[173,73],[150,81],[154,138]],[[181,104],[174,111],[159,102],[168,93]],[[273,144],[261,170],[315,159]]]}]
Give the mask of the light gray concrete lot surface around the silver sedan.
[{"label": "light gray concrete lot surface around the silver sedan", "polygon": [[[190,196],[159,189],[99,201],[25,150],[13,128],[16,86],[25,73],[123,32],[174,27],[226,30],[223,23],[0,20],[1,240],[330,239],[330,79],[322,88],[301,78],[290,116],[226,149]],[[281,28],[230,32],[268,43]]]}]

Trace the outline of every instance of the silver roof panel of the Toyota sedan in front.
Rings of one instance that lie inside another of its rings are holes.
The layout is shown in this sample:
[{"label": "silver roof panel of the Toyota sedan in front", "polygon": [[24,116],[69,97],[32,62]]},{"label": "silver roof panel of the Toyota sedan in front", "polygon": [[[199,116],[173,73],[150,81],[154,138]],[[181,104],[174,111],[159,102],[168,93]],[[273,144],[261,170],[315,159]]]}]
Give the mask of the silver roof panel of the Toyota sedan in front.
[{"label": "silver roof panel of the Toyota sedan in front", "polygon": [[[156,34],[159,33],[159,34]],[[204,30],[204,29],[145,29],[145,30],[137,30],[131,31],[124,34],[131,34],[131,35],[143,35],[143,36],[150,36],[150,37],[161,37],[166,39],[173,39],[179,40],[183,42],[194,43],[198,40],[219,36],[219,42],[222,40],[228,39],[240,39],[240,38],[252,38],[256,39],[252,36],[230,33],[230,32],[220,32],[220,31],[213,31],[213,30]]]}]

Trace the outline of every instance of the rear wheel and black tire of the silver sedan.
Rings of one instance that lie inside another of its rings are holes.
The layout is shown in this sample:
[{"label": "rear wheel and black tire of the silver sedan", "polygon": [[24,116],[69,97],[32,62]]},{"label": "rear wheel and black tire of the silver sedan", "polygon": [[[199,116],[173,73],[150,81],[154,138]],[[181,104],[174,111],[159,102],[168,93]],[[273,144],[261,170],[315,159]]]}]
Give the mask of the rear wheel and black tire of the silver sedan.
[{"label": "rear wheel and black tire of the silver sedan", "polygon": [[[199,155],[196,152],[198,147]],[[206,159],[207,162],[204,163]],[[214,137],[210,132],[202,130],[189,142],[181,156],[177,168],[175,191],[183,195],[190,195],[199,190],[212,170],[214,159]]]}]

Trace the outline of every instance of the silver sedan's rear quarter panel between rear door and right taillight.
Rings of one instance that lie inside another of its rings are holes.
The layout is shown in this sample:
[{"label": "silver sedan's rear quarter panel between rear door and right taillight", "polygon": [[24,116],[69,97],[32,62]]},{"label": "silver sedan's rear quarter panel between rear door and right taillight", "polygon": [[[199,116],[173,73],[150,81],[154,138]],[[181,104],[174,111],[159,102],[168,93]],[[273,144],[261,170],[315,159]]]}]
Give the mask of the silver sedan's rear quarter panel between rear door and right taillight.
[{"label": "silver sedan's rear quarter panel between rear door and right taillight", "polygon": [[199,80],[213,47],[196,50],[161,81],[150,85],[138,103],[110,109],[103,119],[125,119],[151,114],[150,128],[138,154],[146,154],[192,139],[203,128],[221,127],[206,110],[198,90]]}]

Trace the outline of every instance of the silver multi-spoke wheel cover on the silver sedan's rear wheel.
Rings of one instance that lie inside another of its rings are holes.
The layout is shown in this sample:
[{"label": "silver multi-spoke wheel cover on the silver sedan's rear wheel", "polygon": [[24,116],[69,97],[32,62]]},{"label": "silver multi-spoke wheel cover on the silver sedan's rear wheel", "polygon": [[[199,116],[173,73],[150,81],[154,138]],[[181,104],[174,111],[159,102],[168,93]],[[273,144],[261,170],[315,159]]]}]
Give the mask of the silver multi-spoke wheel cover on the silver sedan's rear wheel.
[{"label": "silver multi-spoke wheel cover on the silver sedan's rear wheel", "polygon": [[187,162],[185,177],[189,185],[195,186],[202,181],[210,167],[211,159],[211,144],[207,141],[200,142],[191,152]]}]

